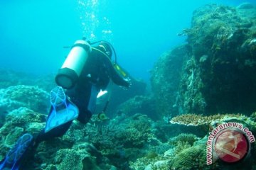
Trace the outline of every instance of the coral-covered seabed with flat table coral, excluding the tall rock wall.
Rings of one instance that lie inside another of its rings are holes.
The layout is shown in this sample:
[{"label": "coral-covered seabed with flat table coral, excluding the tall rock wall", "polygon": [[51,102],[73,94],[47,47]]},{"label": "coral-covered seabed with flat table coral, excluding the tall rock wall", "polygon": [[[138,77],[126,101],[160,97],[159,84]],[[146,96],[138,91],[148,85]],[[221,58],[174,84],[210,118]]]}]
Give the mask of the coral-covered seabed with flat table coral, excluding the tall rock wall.
[{"label": "coral-covered seabed with flat table coral, excluding the tall rock wall", "polygon": [[[199,123],[225,120],[240,120],[253,123],[252,118],[241,115],[186,115],[173,119],[176,123],[188,123],[192,117]],[[6,116],[6,123],[0,128],[0,158],[24,132],[36,134],[45,125],[46,115],[35,113],[28,108],[19,108]],[[201,120],[198,122],[198,120]],[[221,169],[226,166],[215,162],[206,166],[205,137],[191,133],[169,136],[168,141],[156,138],[158,126],[166,129],[164,122],[155,123],[146,115],[119,115],[107,122],[91,121],[82,125],[74,121],[70,130],[61,138],[41,142],[26,169]],[[179,122],[180,121],[180,122]],[[192,124],[192,123],[191,123]],[[202,123],[203,125],[205,123]],[[176,124],[175,124],[176,125]],[[252,124],[256,127],[255,124]],[[178,128],[174,128],[177,131]],[[166,129],[167,131],[167,129]],[[162,132],[164,133],[164,132]],[[196,159],[194,159],[196,157]],[[251,163],[253,165],[253,163]],[[238,164],[243,166],[243,164]]]}]

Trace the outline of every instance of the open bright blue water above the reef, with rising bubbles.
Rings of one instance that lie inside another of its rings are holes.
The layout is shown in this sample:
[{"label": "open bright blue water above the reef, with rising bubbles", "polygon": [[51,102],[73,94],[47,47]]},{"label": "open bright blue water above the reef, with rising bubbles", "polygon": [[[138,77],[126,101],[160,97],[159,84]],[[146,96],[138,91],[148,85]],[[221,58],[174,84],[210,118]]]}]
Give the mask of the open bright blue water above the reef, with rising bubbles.
[{"label": "open bright blue water above the reef, with rising bubbles", "polygon": [[[55,73],[75,40],[108,40],[117,62],[148,82],[163,53],[186,42],[193,11],[208,3],[237,6],[243,1],[171,0],[2,0],[0,67],[36,74]],[[255,4],[255,0],[251,3]]]}]

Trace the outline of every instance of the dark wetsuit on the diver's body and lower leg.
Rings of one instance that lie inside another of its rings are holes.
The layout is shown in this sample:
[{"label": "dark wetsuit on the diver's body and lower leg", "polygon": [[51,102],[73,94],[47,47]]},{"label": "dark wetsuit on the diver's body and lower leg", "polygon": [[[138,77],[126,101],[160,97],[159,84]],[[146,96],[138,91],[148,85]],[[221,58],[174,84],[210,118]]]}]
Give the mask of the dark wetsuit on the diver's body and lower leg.
[{"label": "dark wetsuit on the diver's body and lower leg", "polygon": [[[100,89],[105,90],[110,79],[119,86],[129,86],[129,82],[124,80],[113,67],[111,60],[104,56],[104,53],[92,48],[77,84],[73,89],[66,91],[70,101],[75,103],[79,109],[78,120],[80,123],[87,123],[95,110],[96,98]],[[53,137],[61,137],[70,128],[73,120],[53,128],[49,132],[42,130],[36,137],[36,145],[43,140],[49,140]]]}]

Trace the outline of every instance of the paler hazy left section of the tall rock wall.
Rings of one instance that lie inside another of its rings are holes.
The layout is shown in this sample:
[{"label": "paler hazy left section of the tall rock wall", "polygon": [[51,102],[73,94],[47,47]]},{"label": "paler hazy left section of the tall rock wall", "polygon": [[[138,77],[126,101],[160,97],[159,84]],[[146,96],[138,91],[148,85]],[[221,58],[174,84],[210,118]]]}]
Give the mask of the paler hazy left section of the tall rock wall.
[{"label": "paler hazy left section of the tall rock wall", "polygon": [[162,115],[178,113],[178,86],[182,68],[189,57],[188,53],[188,45],[181,45],[170,52],[165,52],[151,71],[151,87],[159,118]]}]

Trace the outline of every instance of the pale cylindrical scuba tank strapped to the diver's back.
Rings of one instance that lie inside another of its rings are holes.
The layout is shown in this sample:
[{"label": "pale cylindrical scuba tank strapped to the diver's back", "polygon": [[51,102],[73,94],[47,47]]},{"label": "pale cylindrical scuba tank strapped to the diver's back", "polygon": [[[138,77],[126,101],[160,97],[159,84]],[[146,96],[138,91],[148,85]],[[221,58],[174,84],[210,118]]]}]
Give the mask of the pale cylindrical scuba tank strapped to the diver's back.
[{"label": "pale cylindrical scuba tank strapped to the diver's back", "polygon": [[73,88],[91,51],[92,47],[87,41],[75,41],[68,57],[58,70],[58,74],[55,77],[56,84],[62,86],[63,89]]}]

